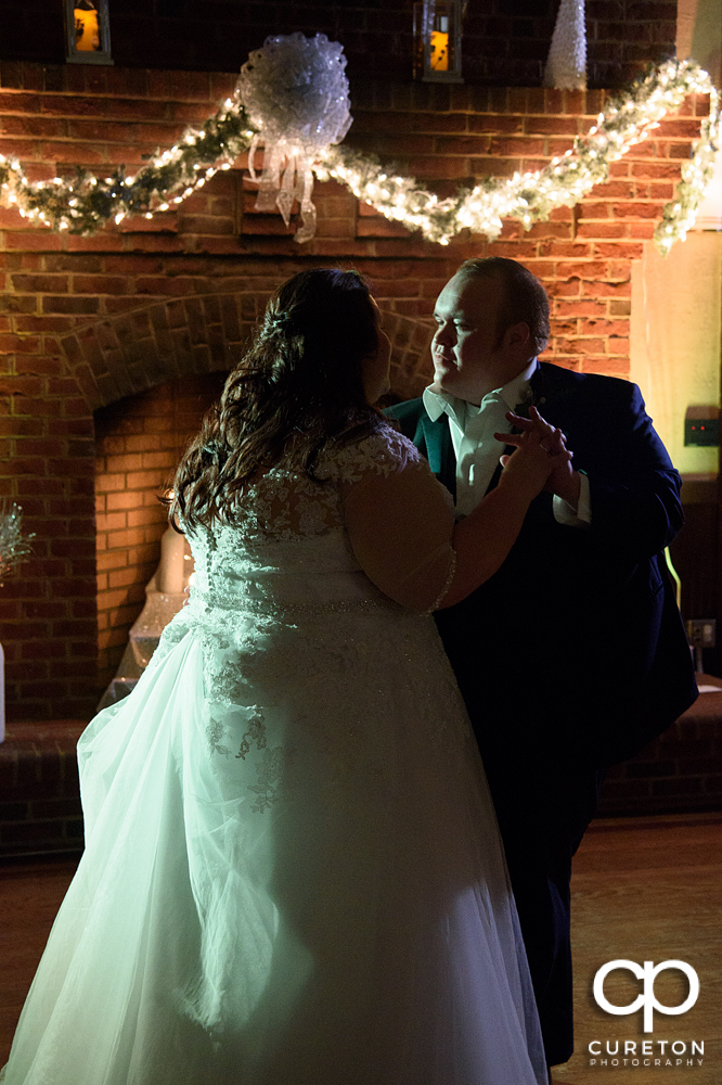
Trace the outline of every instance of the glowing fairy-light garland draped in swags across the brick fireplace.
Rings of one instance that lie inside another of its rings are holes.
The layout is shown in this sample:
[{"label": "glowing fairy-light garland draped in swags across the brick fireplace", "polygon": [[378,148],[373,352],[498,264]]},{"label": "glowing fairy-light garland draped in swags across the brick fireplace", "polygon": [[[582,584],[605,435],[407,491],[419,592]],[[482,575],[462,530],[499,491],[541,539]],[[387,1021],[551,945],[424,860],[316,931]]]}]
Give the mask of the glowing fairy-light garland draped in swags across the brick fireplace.
[{"label": "glowing fairy-light garland draped in swags across the brick fireplace", "polygon": [[[544,169],[485,178],[446,200],[411,177],[384,169],[375,157],[343,145],[328,146],[313,169],[319,180],[344,182],[382,215],[420,230],[428,241],[446,245],[463,229],[493,240],[504,218],[518,219],[528,229],[546,220],[554,208],[579,203],[608,179],[613,162],[647,139],[688,94],[709,94],[709,114],[655,231],[658,248],[667,253],[694,225],[719,145],[720,95],[693,61],[653,66],[628,90],[610,97],[589,132],[577,137],[573,146]],[[17,158],[0,155],[0,196],[31,222],[69,233],[94,233],[128,215],[153,218],[175,209],[219,169],[230,169],[255,135],[236,89],[201,128],[188,128],[178,143],[156,153],[132,176],[124,167],[105,178],[78,168],[72,177],[31,182]]]}]

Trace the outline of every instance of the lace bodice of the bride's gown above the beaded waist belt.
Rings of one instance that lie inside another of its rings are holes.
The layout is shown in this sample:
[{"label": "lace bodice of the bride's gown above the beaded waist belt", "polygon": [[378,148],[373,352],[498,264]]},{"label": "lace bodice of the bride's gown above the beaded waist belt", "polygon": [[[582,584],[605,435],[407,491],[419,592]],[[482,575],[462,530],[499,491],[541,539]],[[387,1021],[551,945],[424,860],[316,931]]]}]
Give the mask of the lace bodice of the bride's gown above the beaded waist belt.
[{"label": "lace bodice of the bride's gown above the beaded waist belt", "polygon": [[[390,426],[346,447],[327,448],[314,473],[319,482],[292,457],[285,458],[245,489],[236,523],[216,522],[209,529],[188,533],[196,598],[210,607],[232,601],[235,608],[274,612],[304,604],[358,604],[364,598],[379,602],[346,529],[349,495],[412,474],[439,492],[442,487],[411,442]],[[369,524],[376,534],[379,526]],[[394,540],[395,550],[399,541]],[[413,544],[409,562],[415,567],[418,540],[408,541]],[[431,552],[437,549],[431,545]],[[386,590],[386,585],[381,587]]]}]

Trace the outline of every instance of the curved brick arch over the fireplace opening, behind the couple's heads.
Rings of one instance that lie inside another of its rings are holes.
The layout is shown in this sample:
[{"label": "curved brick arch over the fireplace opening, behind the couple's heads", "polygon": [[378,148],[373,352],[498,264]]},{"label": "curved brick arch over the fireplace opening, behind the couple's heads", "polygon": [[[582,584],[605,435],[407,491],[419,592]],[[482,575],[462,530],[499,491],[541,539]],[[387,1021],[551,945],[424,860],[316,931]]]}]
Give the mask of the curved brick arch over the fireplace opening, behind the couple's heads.
[{"label": "curved brick arch over the fireplace opening, behind the couple's heads", "polygon": [[[229,370],[268,293],[217,293],[152,302],[61,339],[68,374],[90,411],[181,376]],[[382,309],[392,346],[391,386],[418,395],[430,371],[431,322]]]}]

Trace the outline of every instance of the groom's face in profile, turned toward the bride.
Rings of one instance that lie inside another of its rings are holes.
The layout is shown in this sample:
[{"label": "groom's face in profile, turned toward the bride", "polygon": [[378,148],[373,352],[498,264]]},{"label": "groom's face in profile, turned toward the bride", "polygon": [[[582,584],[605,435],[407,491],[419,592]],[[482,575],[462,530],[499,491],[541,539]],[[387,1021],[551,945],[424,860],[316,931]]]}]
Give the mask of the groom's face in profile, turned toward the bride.
[{"label": "groom's face in profile, turned toward the bride", "polygon": [[[480,404],[488,392],[502,387],[526,361],[513,329],[499,334],[504,284],[498,279],[456,275],[439,294],[434,310],[431,343],[434,387]],[[526,329],[526,324],[514,326]]]}]

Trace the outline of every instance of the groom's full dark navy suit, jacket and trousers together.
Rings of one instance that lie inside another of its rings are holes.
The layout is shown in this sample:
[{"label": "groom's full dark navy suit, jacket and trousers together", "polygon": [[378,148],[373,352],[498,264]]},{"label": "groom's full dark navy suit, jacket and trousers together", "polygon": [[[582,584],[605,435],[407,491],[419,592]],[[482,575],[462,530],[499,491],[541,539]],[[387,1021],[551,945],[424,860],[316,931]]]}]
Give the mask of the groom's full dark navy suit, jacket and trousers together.
[{"label": "groom's full dark navy suit, jacket and trousers together", "polygon": [[[589,476],[591,525],[557,523],[540,494],[502,567],[436,618],[489,779],[553,1065],[573,1049],[571,857],[603,769],[697,688],[662,554],[682,526],[680,476],[639,388],[544,363],[530,385]],[[453,494],[447,416],[431,422],[421,399],[386,413]]]}]

